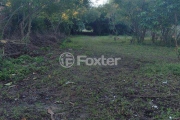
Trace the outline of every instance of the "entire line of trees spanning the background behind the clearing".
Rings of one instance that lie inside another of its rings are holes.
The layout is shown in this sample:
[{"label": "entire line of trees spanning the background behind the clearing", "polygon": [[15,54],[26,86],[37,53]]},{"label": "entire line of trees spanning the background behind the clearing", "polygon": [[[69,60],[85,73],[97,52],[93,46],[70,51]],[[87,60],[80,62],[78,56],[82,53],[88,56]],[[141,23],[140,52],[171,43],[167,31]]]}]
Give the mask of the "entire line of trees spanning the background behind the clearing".
[{"label": "entire line of trees spanning the background behind the clearing", "polygon": [[178,45],[180,0],[110,0],[93,7],[89,0],[3,0],[1,38],[32,33],[77,34],[83,29],[95,35],[131,35],[143,43],[147,33],[153,43]]}]

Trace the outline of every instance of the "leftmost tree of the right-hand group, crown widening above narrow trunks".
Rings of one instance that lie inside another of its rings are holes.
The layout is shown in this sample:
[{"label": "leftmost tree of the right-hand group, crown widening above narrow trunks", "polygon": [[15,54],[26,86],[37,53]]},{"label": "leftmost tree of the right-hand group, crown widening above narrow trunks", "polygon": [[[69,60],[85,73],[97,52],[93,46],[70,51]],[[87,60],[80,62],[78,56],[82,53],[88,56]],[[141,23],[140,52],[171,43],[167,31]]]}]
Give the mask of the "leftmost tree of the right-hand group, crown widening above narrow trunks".
[{"label": "leftmost tree of the right-hand group, crown widening above narrow trunks", "polygon": [[141,20],[144,18],[144,15],[146,15],[149,0],[115,0],[114,2],[120,6],[124,23],[133,31],[132,41],[136,39],[138,43],[142,43],[145,38],[147,27],[141,24]]}]

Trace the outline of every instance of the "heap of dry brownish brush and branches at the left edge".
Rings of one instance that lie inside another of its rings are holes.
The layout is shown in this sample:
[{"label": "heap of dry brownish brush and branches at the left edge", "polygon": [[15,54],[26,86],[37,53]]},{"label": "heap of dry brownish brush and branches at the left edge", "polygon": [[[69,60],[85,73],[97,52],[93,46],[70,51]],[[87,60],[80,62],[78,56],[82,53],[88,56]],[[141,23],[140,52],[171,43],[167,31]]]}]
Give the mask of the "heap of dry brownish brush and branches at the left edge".
[{"label": "heap of dry brownish brush and branches at the left edge", "polygon": [[60,45],[65,38],[61,34],[32,34],[28,44],[21,41],[6,40],[5,43],[0,43],[0,48],[4,46],[6,57],[19,57],[27,54],[29,56],[38,56],[44,54],[40,48],[53,47]]}]

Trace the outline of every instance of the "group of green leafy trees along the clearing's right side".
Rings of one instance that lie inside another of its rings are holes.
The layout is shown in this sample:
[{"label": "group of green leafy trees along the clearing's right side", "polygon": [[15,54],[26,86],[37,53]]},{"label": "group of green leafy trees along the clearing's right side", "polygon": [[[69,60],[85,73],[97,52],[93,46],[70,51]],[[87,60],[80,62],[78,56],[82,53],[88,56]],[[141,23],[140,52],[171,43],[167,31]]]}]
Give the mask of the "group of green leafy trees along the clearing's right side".
[{"label": "group of green leafy trees along the clearing's right side", "polygon": [[[147,30],[160,33],[163,45],[174,44],[172,36],[177,31],[173,26],[179,23],[179,1],[175,0],[114,0],[122,11],[123,22],[131,27],[134,38],[144,42]],[[177,20],[176,20],[177,17]],[[178,33],[179,34],[179,33]],[[155,39],[152,38],[153,43]]]}]

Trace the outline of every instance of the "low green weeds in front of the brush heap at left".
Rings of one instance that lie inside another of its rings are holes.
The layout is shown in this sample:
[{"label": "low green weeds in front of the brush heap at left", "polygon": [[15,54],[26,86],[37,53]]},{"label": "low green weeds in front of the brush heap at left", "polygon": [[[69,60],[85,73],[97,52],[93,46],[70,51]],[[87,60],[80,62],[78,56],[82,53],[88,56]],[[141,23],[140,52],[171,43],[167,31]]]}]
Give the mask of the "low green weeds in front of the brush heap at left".
[{"label": "low green weeds in front of the brush heap at left", "polygon": [[32,72],[41,72],[44,67],[38,67],[44,63],[43,57],[32,58],[23,55],[17,59],[2,59],[0,61],[0,80],[22,80]]}]

